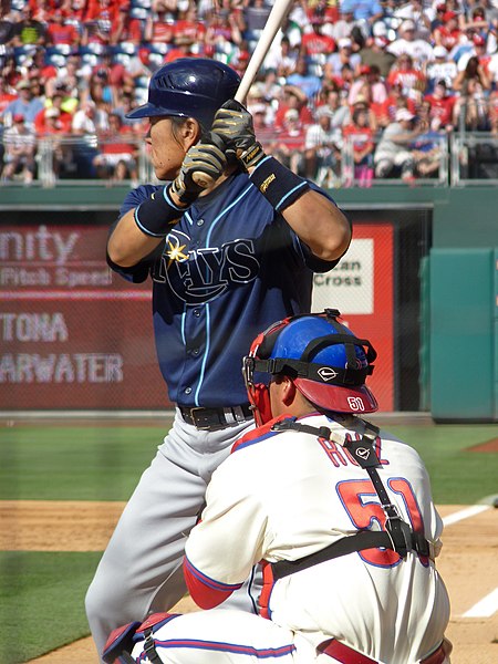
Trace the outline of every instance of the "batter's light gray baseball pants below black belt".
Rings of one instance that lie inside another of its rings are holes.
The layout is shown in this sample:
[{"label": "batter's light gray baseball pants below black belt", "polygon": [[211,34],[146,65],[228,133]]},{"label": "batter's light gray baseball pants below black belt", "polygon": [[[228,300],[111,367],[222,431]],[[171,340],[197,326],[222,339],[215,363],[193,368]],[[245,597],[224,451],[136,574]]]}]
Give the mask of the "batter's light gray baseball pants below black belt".
[{"label": "batter's light gray baseball pants below black belt", "polygon": [[[207,485],[235,440],[252,427],[251,419],[220,430],[198,430],[177,409],[86,593],[86,615],[98,653],[114,629],[151,612],[168,611],[184,596],[185,542],[203,508]],[[256,612],[259,590],[257,582],[248,580],[224,609]]]}]

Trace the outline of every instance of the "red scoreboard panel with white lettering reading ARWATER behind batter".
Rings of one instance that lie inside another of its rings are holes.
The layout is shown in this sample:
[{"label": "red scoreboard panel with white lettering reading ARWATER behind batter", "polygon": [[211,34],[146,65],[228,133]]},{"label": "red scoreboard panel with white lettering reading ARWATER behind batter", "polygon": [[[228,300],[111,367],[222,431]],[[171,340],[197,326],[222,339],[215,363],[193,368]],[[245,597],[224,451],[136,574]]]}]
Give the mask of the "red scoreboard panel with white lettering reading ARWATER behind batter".
[{"label": "red scoreboard panel with white lettering reading ARWATER behind batter", "polygon": [[105,263],[107,228],[0,229],[0,407],[164,408],[151,283]]}]

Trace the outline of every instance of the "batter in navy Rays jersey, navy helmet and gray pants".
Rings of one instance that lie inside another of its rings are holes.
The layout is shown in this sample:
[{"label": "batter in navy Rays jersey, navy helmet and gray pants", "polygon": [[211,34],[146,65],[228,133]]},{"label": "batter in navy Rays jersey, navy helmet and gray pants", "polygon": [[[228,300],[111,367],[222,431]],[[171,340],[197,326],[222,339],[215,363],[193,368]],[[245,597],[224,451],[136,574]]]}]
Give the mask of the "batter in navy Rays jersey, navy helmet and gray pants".
[{"label": "batter in navy Rays jersey, navy helmet and gray pants", "polygon": [[[276,317],[309,311],[313,272],[333,268],[351,240],[330,197],[264,154],[243,106],[224,105],[238,84],[219,62],[177,60],[129,114],[151,118],[152,163],[169,184],[129,193],[108,262],[133,282],[152,278],[157,356],[177,408],[86,595],[98,652],[113,629],[185,593],[184,547],[206,487],[253,425],[241,359]],[[201,189],[199,173],[215,185]],[[232,604],[257,612],[248,575]]]}]

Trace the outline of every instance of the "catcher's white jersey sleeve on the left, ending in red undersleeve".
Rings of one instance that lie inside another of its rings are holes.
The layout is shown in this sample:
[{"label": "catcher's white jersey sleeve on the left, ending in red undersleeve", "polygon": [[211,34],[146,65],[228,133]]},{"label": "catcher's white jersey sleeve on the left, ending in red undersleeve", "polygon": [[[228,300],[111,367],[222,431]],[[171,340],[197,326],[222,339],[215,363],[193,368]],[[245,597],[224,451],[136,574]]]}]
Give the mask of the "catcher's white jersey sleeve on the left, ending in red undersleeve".
[{"label": "catcher's white jersey sleeve on the left, ending in red undersleeve", "polygon": [[240,588],[263,556],[268,517],[256,487],[243,479],[245,457],[238,452],[214,473],[203,520],[186,543],[187,588],[203,609]]}]

